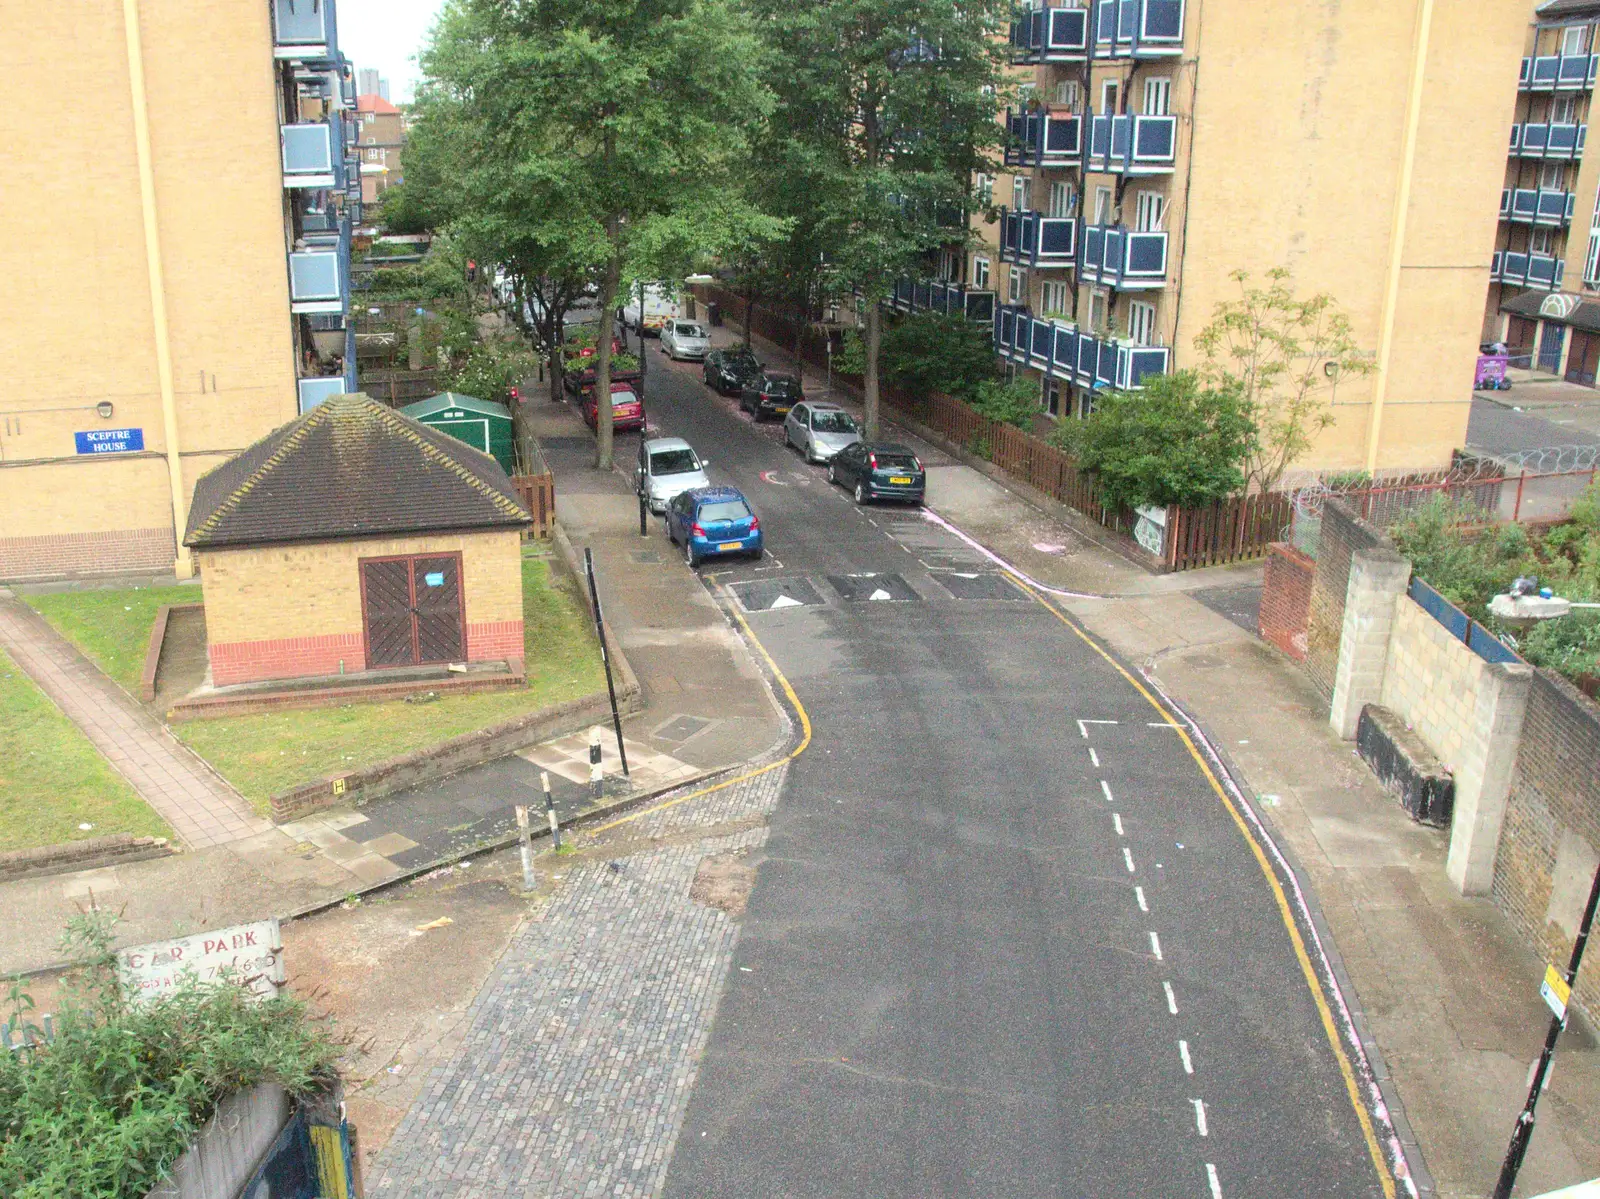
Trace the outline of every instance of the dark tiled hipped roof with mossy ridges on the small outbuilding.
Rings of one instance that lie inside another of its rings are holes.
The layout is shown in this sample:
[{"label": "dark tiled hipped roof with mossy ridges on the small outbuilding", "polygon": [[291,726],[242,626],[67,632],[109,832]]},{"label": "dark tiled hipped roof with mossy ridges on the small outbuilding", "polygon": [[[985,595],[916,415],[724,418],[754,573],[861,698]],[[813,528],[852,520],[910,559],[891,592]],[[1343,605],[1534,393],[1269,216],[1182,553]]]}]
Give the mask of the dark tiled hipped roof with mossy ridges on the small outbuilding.
[{"label": "dark tiled hipped roof with mossy ridges on the small outbuilding", "polygon": [[366,395],[338,395],[202,475],[186,546],[526,525],[485,453]]}]

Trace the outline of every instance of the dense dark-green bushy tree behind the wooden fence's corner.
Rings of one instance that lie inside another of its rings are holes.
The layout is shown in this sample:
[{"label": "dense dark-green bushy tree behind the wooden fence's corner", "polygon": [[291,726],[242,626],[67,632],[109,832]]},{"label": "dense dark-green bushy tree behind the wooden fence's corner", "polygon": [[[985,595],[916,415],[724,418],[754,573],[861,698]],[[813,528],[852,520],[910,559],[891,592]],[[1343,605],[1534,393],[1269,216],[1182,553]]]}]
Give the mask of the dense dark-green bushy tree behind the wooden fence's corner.
[{"label": "dense dark-green bushy tree behind the wooden fence's corner", "polygon": [[1051,442],[1094,472],[1107,507],[1200,507],[1245,487],[1256,423],[1237,383],[1184,370],[1109,392],[1088,419],[1058,424]]}]

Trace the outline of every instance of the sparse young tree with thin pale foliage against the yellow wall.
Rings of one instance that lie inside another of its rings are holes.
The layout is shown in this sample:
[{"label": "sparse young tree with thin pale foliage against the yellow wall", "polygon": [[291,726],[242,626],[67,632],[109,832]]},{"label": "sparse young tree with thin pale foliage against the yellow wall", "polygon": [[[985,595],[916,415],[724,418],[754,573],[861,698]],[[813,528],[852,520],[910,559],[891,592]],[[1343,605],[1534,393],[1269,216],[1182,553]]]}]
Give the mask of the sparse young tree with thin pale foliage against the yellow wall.
[{"label": "sparse young tree with thin pale foliage against the yellow wall", "polygon": [[1218,387],[1237,389],[1259,435],[1245,477],[1272,491],[1317,434],[1333,424],[1328,402],[1339,381],[1368,375],[1373,363],[1357,347],[1350,320],[1325,291],[1296,298],[1290,272],[1267,272],[1266,287],[1234,271],[1238,298],[1226,299],[1195,336],[1202,373]]}]

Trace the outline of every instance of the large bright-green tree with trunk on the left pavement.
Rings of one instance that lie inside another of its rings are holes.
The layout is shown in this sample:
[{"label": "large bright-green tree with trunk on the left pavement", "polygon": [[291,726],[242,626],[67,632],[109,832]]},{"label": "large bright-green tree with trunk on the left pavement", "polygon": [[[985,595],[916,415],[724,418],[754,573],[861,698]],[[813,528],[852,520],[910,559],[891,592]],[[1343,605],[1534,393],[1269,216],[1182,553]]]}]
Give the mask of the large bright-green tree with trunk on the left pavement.
[{"label": "large bright-green tree with trunk on the left pavement", "polygon": [[451,147],[469,243],[597,285],[595,464],[610,469],[624,287],[771,229],[734,186],[771,107],[760,43],[728,0],[451,0],[422,69],[418,120]]}]

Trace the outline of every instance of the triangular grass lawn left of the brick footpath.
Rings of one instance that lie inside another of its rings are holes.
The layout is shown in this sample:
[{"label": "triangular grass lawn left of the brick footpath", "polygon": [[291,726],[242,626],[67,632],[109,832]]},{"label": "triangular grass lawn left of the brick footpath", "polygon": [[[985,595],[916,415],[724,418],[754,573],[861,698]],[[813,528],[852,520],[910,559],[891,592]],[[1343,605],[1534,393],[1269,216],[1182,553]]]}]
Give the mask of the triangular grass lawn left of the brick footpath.
[{"label": "triangular grass lawn left of the brick footpath", "polygon": [[107,832],[173,836],[77,725],[0,650],[0,850],[59,845]]}]

